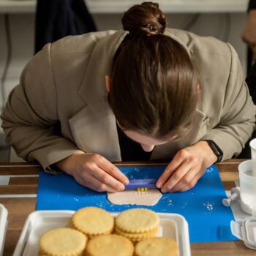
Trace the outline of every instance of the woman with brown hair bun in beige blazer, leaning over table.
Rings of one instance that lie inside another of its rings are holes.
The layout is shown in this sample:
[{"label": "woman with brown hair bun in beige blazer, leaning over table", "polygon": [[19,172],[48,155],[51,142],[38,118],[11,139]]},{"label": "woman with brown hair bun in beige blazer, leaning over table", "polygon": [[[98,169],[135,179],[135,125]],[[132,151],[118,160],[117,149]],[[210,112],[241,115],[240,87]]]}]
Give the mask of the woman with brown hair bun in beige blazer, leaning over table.
[{"label": "woman with brown hair bun in beige blazer, leaning over table", "polygon": [[157,187],[185,191],[255,129],[238,56],[218,39],[165,29],[151,2],[122,23],[45,45],[29,61],[1,116],[7,142],[96,191],[128,183],[111,162],[167,158]]}]

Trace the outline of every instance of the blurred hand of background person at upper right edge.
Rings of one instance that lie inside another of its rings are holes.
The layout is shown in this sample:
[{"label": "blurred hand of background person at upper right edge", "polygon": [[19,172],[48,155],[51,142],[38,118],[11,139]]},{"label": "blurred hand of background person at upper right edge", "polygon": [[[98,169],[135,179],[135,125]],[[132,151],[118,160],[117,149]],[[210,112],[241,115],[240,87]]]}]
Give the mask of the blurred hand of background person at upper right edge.
[{"label": "blurred hand of background person at upper right edge", "polygon": [[242,39],[252,49],[252,58],[256,60],[256,10],[249,11]]}]

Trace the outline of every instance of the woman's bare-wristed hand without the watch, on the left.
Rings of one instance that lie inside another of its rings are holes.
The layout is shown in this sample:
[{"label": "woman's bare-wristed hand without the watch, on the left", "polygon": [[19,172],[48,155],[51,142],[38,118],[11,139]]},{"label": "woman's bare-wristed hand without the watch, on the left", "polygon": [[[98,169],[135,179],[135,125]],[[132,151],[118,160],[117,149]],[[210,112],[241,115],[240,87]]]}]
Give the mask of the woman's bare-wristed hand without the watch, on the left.
[{"label": "woman's bare-wristed hand without the watch, on the left", "polygon": [[124,190],[128,178],[99,154],[77,151],[56,163],[60,170],[73,176],[79,184],[97,192]]}]

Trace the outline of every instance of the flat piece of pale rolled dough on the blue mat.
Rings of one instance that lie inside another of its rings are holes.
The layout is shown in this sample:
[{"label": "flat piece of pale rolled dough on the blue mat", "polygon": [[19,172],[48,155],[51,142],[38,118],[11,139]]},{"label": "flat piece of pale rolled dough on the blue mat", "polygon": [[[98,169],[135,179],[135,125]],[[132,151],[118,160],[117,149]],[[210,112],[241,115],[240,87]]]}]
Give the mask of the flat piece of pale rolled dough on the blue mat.
[{"label": "flat piece of pale rolled dough on the blue mat", "polygon": [[161,197],[162,193],[158,189],[149,189],[147,192],[138,192],[137,190],[108,192],[108,200],[116,205],[154,206]]}]

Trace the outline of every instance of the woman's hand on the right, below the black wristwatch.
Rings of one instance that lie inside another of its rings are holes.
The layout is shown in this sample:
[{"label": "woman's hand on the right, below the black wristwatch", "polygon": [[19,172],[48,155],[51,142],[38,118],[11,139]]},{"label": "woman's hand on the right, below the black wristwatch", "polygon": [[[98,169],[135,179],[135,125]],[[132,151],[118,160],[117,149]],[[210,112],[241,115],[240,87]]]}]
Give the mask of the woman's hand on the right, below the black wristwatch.
[{"label": "woman's hand on the right, below the black wristwatch", "polygon": [[202,140],[183,148],[177,152],[159,177],[157,187],[164,193],[189,190],[203,176],[206,168],[216,161],[217,156],[206,141]]}]

